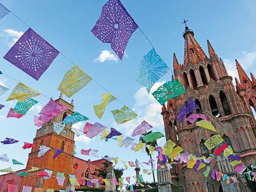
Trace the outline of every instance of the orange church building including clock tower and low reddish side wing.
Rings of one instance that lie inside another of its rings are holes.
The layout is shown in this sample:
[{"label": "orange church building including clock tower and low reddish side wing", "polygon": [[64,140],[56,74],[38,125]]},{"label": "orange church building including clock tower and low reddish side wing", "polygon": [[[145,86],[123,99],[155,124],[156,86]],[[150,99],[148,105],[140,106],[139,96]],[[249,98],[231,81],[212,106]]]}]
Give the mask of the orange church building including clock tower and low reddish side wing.
[{"label": "orange church building including clock tower and low reddish side wing", "polygon": [[[65,129],[59,135],[54,131],[53,122],[60,122],[68,115],[72,115],[74,109],[74,101],[72,100],[71,103],[69,103],[63,100],[62,94],[56,101],[62,105],[65,105],[68,110],[52,118],[49,122],[44,123],[40,129],[36,131],[36,136],[33,140],[33,144],[35,144],[35,146],[33,146],[31,149],[26,168],[15,173],[1,175],[0,182],[2,185],[0,186],[0,192],[7,191],[8,184],[18,185],[18,191],[22,191],[23,186],[41,187],[45,190],[47,188],[53,188],[56,190],[65,189],[69,180],[69,174],[75,175],[77,179],[83,178],[81,179],[81,185],[76,186],[78,188],[86,185],[96,186],[93,183],[89,184],[84,178],[101,179],[97,176],[93,176],[92,173],[94,173],[95,168],[102,167],[102,162],[106,160],[99,159],[96,161],[91,161],[90,159],[83,160],[75,157],[74,132],[71,130],[70,124],[66,124]],[[52,148],[44,156],[38,157],[40,145],[45,145]],[[64,152],[53,159],[55,154],[53,148],[63,150]],[[30,170],[31,167],[38,167],[39,169],[34,172],[29,172],[30,174],[27,176],[17,176],[17,173],[26,172],[27,170]],[[42,177],[37,176],[37,172],[45,169],[53,171],[53,174],[49,179],[43,179]],[[66,180],[63,187],[58,185],[56,179],[57,172],[62,172],[65,174]]]}]

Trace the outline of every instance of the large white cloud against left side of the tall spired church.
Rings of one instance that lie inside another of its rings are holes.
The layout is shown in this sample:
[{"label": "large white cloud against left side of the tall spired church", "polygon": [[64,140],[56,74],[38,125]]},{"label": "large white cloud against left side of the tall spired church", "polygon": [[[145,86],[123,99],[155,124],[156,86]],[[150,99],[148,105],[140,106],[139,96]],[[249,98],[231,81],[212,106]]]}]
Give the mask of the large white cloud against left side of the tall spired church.
[{"label": "large white cloud against left side of the tall spired church", "polygon": [[[152,92],[163,83],[164,81],[155,83],[152,87]],[[151,93],[148,94],[144,87],[140,88],[135,93],[134,98],[135,104],[132,110],[161,132],[159,127],[163,129],[163,117],[161,115],[162,105],[153,97]],[[135,127],[138,126],[141,121],[142,120],[140,118],[136,118],[122,124],[121,126],[125,129],[126,135],[131,135]]]}]

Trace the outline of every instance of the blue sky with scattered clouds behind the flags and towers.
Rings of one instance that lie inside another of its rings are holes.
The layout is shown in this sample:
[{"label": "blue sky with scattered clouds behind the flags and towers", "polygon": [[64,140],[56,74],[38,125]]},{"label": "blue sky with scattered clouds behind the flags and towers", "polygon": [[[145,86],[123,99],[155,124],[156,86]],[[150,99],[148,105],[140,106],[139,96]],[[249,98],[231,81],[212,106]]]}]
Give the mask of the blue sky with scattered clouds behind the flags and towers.
[{"label": "blue sky with scattered clouds behind the flags and towers", "polygon": [[[126,47],[126,56],[121,61],[117,59],[109,44],[103,44],[90,32],[100,16],[101,7],[106,1],[27,0],[21,2],[6,0],[1,1],[1,3],[22,18],[33,30],[75,62],[106,90],[134,109],[157,130],[164,133],[160,115],[161,106],[135,80],[141,58],[152,48],[142,33],[137,30],[133,34]],[[159,1],[152,0],[123,0],[122,3],[151,40],[156,51],[171,68],[174,52],[178,61],[183,63],[184,39],[182,32],[184,25],[181,22],[185,18],[189,20],[187,25],[194,30],[195,38],[204,52],[208,55],[206,39],[209,39],[216,53],[222,57],[231,76],[237,75],[235,58],[239,60],[247,73],[252,72],[256,75],[256,70],[253,69],[256,62],[256,40],[254,38],[256,13],[253,9],[256,6],[255,1],[161,1],[159,3]],[[57,99],[59,83],[63,75],[72,68],[71,63],[63,56],[59,55],[38,81],[3,59],[13,41],[27,29],[27,26],[12,14],[0,21],[0,70],[38,92]],[[153,89],[156,89],[164,81],[170,80],[171,75],[168,72]],[[14,107],[16,101],[5,102],[5,100],[17,82],[1,75],[0,83],[10,89],[9,92],[0,97],[0,103]],[[100,95],[102,93],[105,91],[95,82],[90,82],[88,86],[73,96],[75,111],[97,120],[105,126],[115,127],[124,135],[130,136],[133,129],[142,120],[138,118],[121,126],[117,125],[110,111],[122,107],[118,101],[110,103],[102,119],[99,120],[94,114],[92,106],[101,102]],[[71,101],[71,98],[66,96],[63,98]],[[37,127],[33,124],[32,115],[36,115],[49,99],[38,96],[35,100],[40,103],[28,112],[30,115],[20,119],[6,119],[9,108],[0,111],[0,140],[11,137],[26,142],[33,141]],[[89,122],[94,123],[94,121]],[[83,124],[80,123],[76,126],[82,129]],[[130,147],[118,147],[115,140],[105,143],[105,141],[100,141],[99,137],[89,140],[82,136],[76,139],[78,139],[76,156],[79,158],[95,160],[94,157],[79,154],[81,149],[93,148],[99,150],[100,156],[119,156],[120,160],[126,161],[135,161],[136,158],[140,162],[148,160],[144,153],[134,153]],[[160,140],[159,143],[163,145],[164,139]],[[24,151],[22,145],[22,142],[8,146],[3,145],[0,147],[0,155],[7,153],[10,158],[26,164],[30,150]],[[12,166],[14,170],[25,167],[13,166],[6,162],[0,163],[0,169],[9,166]],[[117,166],[122,167],[122,164],[118,163]],[[135,171],[131,167],[124,173],[124,177],[134,175]],[[148,181],[152,180],[151,176],[143,176],[143,178]]]}]

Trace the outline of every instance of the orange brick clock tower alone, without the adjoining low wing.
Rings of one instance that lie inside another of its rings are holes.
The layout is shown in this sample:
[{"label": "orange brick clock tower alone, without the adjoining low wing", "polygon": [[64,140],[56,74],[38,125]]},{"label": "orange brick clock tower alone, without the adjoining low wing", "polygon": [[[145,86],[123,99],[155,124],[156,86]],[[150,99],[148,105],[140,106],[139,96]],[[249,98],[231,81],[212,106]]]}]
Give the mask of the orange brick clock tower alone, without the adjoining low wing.
[{"label": "orange brick clock tower alone, without the adjoining low wing", "polygon": [[[63,129],[63,131],[58,135],[53,129],[53,123],[60,122],[68,115],[73,114],[74,101],[72,99],[71,103],[69,103],[63,100],[62,93],[55,101],[65,105],[68,109],[64,113],[59,114],[50,121],[42,124],[40,129],[36,131],[36,136],[33,141],[35,146],[32,147],[31,153],[29,154],[26,171],[31,169],[31,167],[37,167],[39,169],[34,172],[30,172],[30,175],[24,176],[22,185],[42,187],[44,189],[60,189],[56,180],[57,172],[64,173],[66,178],[69,178],[68,174],[72,174],[75,143],[74,132],[71,130],[71,125],[66,124],[65,129]],[[44,156],[38,157],[40,145],[51,147],[51,149]],[[55,155],[54,149],[63,150],[64,152],[53,159],[53,156]],[[37,176],[37,172],[44,169],[53,171],[50,179],[42,179]],[[65,180],[63,186],[66,186],[67,181],[68,179]]]}]

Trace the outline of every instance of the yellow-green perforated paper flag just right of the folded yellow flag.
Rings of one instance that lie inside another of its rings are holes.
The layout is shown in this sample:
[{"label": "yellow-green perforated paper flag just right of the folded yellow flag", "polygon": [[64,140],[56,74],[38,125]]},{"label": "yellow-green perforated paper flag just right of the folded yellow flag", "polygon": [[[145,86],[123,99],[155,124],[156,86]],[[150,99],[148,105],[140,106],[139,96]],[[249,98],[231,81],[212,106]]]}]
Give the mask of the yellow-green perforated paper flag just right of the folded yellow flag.
[{"label": "yellow-green perforated paper flag just right of the folded yellow flag", "polygon": [[122,124],[137,117],[137,114],[130,110],[127,106],[123,106],[121,110],[111,111],[117,124]]}]

